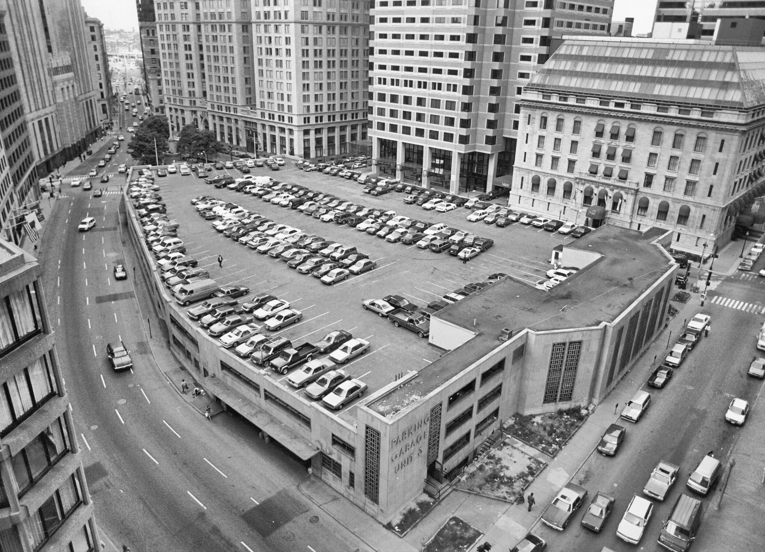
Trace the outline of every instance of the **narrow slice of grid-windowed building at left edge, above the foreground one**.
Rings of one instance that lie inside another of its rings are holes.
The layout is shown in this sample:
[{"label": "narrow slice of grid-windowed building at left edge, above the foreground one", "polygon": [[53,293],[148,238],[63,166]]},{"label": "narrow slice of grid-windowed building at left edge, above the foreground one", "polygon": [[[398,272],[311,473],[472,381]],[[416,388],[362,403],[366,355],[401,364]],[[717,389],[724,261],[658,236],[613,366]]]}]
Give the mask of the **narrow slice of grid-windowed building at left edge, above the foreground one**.
[{"label": "narrow slice of grid-windowed building at left edge, above the foreground one", "polygon": [[17,65],[11,54],[6,14],[0,11],[0,232],[13,241],[17,210],[35,196],[37,170],[21,99]]}]

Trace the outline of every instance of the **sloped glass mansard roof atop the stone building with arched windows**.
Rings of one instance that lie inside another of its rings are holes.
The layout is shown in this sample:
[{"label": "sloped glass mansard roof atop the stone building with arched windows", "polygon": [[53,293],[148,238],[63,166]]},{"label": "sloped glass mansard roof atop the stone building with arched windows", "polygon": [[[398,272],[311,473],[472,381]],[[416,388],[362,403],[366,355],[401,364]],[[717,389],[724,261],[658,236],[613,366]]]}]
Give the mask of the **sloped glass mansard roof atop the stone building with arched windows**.
[{"label": "sloped glass mansard roof atop the stone building with arched windows", "polygon": [[765,103],[765,48],[565,41],[526,88],[748,109]]}]

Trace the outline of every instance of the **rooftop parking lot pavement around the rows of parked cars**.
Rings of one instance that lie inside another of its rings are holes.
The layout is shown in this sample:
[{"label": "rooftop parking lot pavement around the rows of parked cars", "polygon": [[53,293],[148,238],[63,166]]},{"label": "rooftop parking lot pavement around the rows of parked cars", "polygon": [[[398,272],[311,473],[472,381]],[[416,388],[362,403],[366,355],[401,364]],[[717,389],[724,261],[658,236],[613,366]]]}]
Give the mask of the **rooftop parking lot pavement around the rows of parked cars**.
[{"label": "rooftop parking lot pavement around the rows of parked cars", "polygon": [[[235,178],[242,176],[236,169],[219,170],[217,173]],[[270,333],[272,335],[285,336],[292,343],[300,344],[318,341],[332,330],[347,330],[353,333],[354,338],[369,341],[369,352],[339,367],[369,386],[366,396],[409,371],[424,368],[438,359],[442,351],[429,345],[428,339],[419,338],[417,333],[395,327],[386,318],[363,310],[363,300],[398,294],[425,307],[429,302],[441,299],[444,294],[468,283],[486,281],[490,274],[497,272],[513,274],[533,283],[544,278],[545,272],[551,268],[549,258],[552,248],[573,240],[557,232],[546,232],[519,223],[499,228],[483,221],[468,222],[467,216],[473,213],[470,209],[461,208],[448,213],[426,211],[421,206],[404,203],[403,193],[370,196],[362,192],[363,185],[353,180],[318,172],[304,173],[292,166],[291,161],[278,171],[267,167],[252,169],[252,174],[256,176],[299,184],[373,209],[393,210],[412,219],[446,222],[450,227],[493,239],[492,248],[464,264],[447,252],[389,243],[350,226],[322,222],[297,209],[277,206],[248,193],[237,193],[225,187],[215,189],[203,180],[203,177],[213,174],[216,171],[203,174],[200,178],[195,174],[181,176],[177,173],[155,180],[160,186],[158,193],[167,203],[168,217],[180,224],[178,237],[185,242],[186,254],[196,258],[199,267],[209,271],[210,277],[218,284],[249,287],[249,294],[240,298],[240,302],[252,297],[252,294],[269,293],[288,300],[292,308],[303,313],[298,323]],[[190,204],[191,199],[203,194],[236,203],[275,222],[320,235],[329,242],[355,245],[360,252],[376,261],[377,266],[363,274],[351,274],[347,280],[332,286],[322,284],[311,274],[300,274],[288,268],[285,261],[259,254],[216,232],[211,227],[211,222],[215,221],[203,219]],[[223,257],[223,268],[218,265],[218,255]],[[269,334],[265,329],[263,333]],[[266,372],[277,380],[288,377],[271,370]],[[287,386],[286,382],[284,384]],[[352,404],[357,402],[358,399]],[[353,408],[348,406],[338,415],[347,421],[355,419]]]}]

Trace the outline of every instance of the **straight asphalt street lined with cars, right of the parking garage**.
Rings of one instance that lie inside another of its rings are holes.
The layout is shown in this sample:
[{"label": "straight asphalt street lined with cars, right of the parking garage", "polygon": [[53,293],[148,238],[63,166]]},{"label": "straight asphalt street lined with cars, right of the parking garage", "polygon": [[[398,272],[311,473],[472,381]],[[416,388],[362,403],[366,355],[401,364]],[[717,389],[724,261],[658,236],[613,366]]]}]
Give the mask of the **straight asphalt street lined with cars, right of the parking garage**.
[{"label": "straight asphalt street lined with cars, right of the parking garage", "polygon": [[[757,264],[763,268],[765,260]],[[754,274],[754,272],[752,273]],[[761,304],[765,279],[737,273],[724,280],[708,295]],[[698,299],[692,299],[698,300]],[[554,531],[540,521],[533,532],[548,542],[549,552],[582,552],[601,550],[607,546],[617,552],[635,550],[632,544],[616,536],[617,526],[633,495],[643,495],[643,487],[653,468],[664,459],[680,466],[679,476],[664,502],[654,502],[654,511],[640,541],[640,550],[663,550],[656,544],[663,521],[669,516],[680,492],[700,498],[685,487],[685,482],[698,462],[709,451],[715,456],[728,458],[739,428],[724,421],[725,411],[733,398],[744,398],[750,404],[760,389],[760,380],[747,376],[747,369],[755,354],[757,331],[763,320],[747,313],[717,304],[707,304],[704,313],[711,315],[711,332],[691,352],[675,377],[664,389],[643,389],[652,394],[652,405],[637,424],[616,421],[627,427],[627,437],[615,457],[593,453],[575,475],[573,482],[589,491],[586,505],[597,491],[616,498],[614,511],[601,534],[594,534],[580,525],[584,508],[575,515],[571,525],[563,532]],[[677,336],[671,336],[674,343]],[[658,362],[658,359],[657,359]],[[645,381],[649,369],[630,373],[628,378]],[[621,407],[622,405],[620,405]],[[759,405],[761,408],[761,405]],[[645,497],[648,498],[648,497]],[[713,492],[702,498],[704,508],[718,500]],[[546,504],[538,505],[540,511]],[[696,541],[695,550],[704,550],[702,541]]]}]

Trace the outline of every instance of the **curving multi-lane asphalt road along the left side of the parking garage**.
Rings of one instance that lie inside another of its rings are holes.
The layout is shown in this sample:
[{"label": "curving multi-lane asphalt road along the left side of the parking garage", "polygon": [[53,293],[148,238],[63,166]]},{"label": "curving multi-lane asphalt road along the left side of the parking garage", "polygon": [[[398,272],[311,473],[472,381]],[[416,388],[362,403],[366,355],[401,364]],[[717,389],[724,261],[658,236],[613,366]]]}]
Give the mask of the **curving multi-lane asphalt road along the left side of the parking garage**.
[{"label": "curving multi-lane asphalt road along the left side of the parking garage", "polygon": [[[150,312],[142,282],[132,281],[132,271],[127,281],[113,279],[113,266],[132,255],[117,232],[119,193],[64,191],[41,261],[102,527],[135,552],[360,547],[298,491],[301,463],[259,440],[243,420],[205,420],[168,385],[149,354],[136,300],[137,292]],[[96,228],[79,233],[85,216],[96,218]],[[113,372],[106,359],[106,343],[120,340],[134,358],[129,372]]]}]

